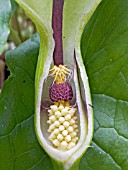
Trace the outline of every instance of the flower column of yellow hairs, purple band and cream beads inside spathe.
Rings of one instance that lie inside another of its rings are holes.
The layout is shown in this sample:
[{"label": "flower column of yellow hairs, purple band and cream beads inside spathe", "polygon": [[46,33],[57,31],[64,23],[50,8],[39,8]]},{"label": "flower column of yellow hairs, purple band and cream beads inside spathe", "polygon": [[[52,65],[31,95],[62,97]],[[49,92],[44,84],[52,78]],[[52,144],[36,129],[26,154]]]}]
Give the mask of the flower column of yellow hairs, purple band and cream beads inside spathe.
[{"label": "flower column of yellow hairs, purple band and cream beads inside spathe", "polygon": [[71,85],[66,83],[66,75],[71,71],[63,65],[54,66],[50,70],[54,82],[50,87],[50,98],[54,105],[50,106],[48,132],[49,140],[58,150],[70,150],[78,141],[77,108],[70,105],[73,97]]}]

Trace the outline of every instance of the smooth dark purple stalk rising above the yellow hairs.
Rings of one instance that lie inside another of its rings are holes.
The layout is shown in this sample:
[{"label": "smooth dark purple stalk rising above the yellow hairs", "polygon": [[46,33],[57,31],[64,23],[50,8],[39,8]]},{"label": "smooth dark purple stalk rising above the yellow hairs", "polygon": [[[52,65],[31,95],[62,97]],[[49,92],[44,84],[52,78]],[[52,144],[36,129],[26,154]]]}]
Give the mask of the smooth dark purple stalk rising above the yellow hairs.
[{"label": "smooth dark purple stalk rising above the yellow hairs", "polygon": [[52,10],[52,28],[55,40],[55,49],[53,53],[54,64],[63,64],[63,44],[62,44],[62,20],[63,20],[64,0],[53,0]]}]

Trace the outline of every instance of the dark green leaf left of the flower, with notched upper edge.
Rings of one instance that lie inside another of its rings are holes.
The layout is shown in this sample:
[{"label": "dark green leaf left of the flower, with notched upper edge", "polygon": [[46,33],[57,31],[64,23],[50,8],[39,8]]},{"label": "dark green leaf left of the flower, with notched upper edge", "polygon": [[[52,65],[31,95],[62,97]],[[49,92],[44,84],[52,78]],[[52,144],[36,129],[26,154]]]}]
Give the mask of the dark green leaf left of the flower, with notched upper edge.
[{"label": "dark green leaf left of the flower, with notched upper edge", "polygon": [[36,35],[13,51],[6,61],[11,76],[0,94],[0,168],[51,169],[34,133],[34,79],[39,52]]}]

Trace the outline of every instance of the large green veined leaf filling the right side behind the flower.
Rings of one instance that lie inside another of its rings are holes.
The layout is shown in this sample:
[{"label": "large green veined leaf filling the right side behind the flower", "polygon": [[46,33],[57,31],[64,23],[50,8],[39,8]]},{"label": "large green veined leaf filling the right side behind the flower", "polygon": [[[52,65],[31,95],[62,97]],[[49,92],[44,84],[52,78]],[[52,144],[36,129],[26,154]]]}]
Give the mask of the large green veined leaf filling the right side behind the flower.
[{"label": "large green veined leaf filling the right side behind the flower", "polygon": [[81,51],[93,96],[95,132],[81,170],[128,167],[127,21],[127,0],[104,0],[83,32]]}]

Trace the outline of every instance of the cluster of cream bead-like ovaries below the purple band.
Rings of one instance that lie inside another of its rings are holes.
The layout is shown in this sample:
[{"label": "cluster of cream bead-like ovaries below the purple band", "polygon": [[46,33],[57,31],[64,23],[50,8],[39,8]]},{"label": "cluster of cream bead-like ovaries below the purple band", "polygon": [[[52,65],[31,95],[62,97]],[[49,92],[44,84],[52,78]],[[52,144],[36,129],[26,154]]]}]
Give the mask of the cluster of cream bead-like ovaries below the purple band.
[{"label": "cluster of cream bead-like ovaries below the purple band", "polygon": [[49,112],[49,140],[52,144],[63,150],[73,148],[77,141],[76,108],[71,107],[69,102],[56,102],[50,106]]}]

